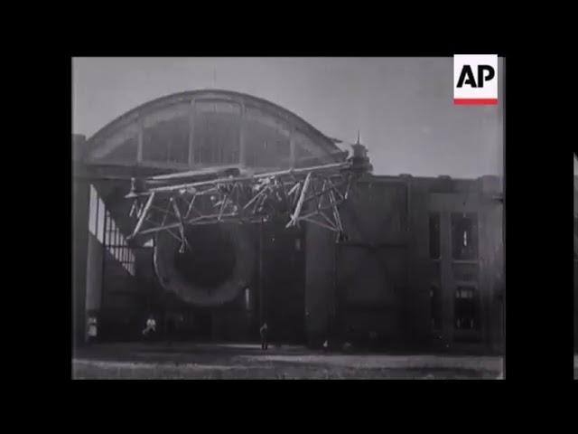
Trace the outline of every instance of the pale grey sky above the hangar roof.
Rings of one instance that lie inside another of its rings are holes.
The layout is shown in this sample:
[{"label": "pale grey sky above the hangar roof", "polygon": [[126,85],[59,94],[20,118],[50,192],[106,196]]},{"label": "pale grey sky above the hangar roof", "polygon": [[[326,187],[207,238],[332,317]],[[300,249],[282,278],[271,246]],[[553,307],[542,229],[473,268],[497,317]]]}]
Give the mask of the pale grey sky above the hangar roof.
[{"label": "pale grey sky above the hangar roof", "polygon": [[[354,142],[359,129],[376,175],[501,175],[503,82],[498,106],[455,106],[452,65],[451,57],[79,58],[73,130],[90,137],[175,92],[236,90],[275,102],[330,137]],[[501,59],[499,78],[500,71]]]}]

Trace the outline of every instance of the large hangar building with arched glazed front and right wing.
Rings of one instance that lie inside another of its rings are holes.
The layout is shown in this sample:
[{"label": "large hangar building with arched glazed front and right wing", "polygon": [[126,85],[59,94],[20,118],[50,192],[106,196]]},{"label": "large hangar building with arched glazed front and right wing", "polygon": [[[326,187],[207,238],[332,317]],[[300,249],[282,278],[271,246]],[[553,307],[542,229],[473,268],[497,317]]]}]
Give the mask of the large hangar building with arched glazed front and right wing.
[{"label": "large hangar building with arched glazed front and right wing", "polygon": [[[126,242],[132,176],[239,164],[256,170],[323,165],[346,155],[294,113],[264,99],[197,90],[154,99],[100,129],[73,136],[73,343],[139,339],[146,317],[177,318],[182,339],[271,339],[316,346],[484,352],[504,341],[503,200],[499,178],[363,175],[341,205],[347,241],[317,226],[247,231],[246,250],[206,226],[192,236],[206,254],[164,276],[156,240]],[[372,144],[376,145],[376,144]],[[245,251],[245,253],[240,253]],[[242,258],[239,258],[242,256]],[[196,306],[172,280],[219,288],[238,260],[250,278],[231,301]]]}]

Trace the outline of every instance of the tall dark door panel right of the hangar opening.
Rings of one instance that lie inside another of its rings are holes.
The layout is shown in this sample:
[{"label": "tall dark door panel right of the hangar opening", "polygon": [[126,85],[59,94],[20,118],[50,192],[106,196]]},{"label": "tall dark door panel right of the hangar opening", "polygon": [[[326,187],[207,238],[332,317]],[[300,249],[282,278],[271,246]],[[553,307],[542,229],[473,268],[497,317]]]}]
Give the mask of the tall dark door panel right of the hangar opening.
[{"label": "tall dark door panel right of the hangar opening", "polygon": [[362,182],[341,211],[348,241],[338,254],[341,327],[389,341],[403,337],[407,286],[406,184]]}]

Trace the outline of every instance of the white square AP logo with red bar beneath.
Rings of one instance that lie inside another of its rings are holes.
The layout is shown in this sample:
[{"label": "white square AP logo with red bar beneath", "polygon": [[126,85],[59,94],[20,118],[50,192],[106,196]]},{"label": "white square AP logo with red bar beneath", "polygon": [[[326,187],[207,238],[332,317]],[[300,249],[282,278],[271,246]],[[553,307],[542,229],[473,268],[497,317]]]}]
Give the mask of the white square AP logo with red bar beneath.
[{"label": "white square AP logo with red bar beneath", "polygon": [[498,104],[498,55],[453,56],[453,103]]}]

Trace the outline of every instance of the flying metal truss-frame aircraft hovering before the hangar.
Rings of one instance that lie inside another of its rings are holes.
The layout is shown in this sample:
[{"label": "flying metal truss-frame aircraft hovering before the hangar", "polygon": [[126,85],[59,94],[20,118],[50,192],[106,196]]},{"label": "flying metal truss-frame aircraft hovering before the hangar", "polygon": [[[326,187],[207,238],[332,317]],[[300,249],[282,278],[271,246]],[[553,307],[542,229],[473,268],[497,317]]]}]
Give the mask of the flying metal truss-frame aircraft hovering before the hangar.
[{"label": "flying metal truss-frame aircraft hovering before the hangar", "polygon": [[134,203],[137,236],[167,231],[181,242],[181,251],[190,248],[185,228],[215,223],[282,222],[285,228],[301,222],[316,224],[344,239],[339,206],[347,200],[351,184],[371,170],[367,149],[353,146],[347,161],[289,169],[266,174],[241,176],[238,173],[187,184],[147,187],[133,180],[127,198]]}]

